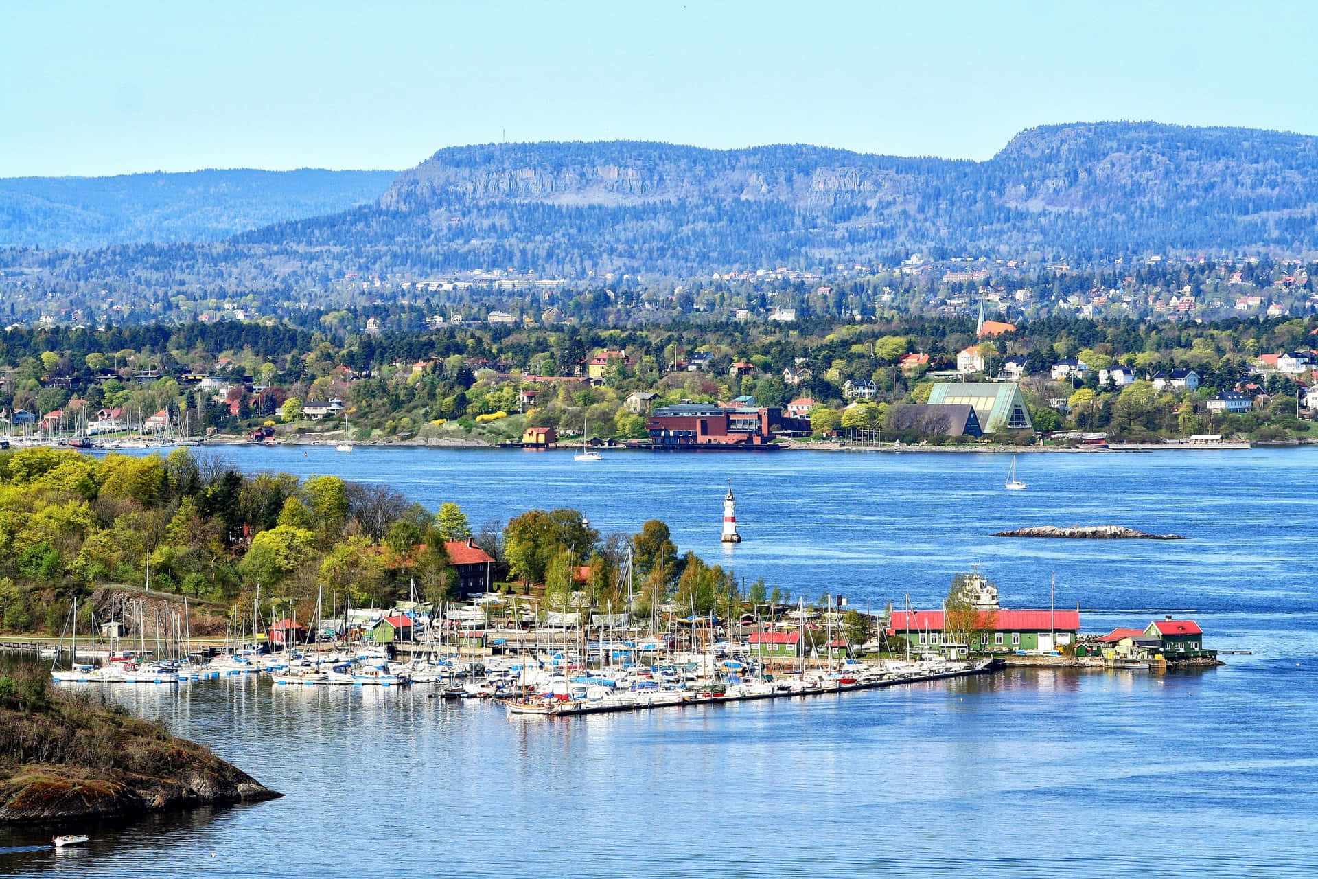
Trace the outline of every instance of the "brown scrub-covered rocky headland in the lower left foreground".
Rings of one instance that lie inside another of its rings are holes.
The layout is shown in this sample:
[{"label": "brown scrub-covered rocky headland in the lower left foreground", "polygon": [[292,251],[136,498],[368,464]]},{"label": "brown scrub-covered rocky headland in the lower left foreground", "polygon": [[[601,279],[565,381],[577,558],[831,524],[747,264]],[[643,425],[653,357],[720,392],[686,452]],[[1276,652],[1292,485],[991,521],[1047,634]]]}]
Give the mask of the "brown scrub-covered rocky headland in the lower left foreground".
[{"label": "brown scrub-covered rocky headland in the lower left foreground", "polygon": [[0,822],[42,822],[273,800],[210,749],[86,693],[53,692],[45,669],[0,677]]}]

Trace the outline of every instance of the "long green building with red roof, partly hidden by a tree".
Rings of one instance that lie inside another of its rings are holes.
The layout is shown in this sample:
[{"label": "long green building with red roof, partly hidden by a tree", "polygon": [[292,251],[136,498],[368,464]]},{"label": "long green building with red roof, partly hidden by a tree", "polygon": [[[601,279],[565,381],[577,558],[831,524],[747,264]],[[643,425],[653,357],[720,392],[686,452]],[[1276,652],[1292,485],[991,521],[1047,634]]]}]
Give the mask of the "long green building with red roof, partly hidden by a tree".
[{"label": "long green building with red roof, partly hidden by a tree", "polygon": [[[975,652],[1039,651],[1052,652],[1074,644],[1079,634],[1078,610],[994,610],[981,611],[981,643]],[[894,610],[888,635],[908,638],[924,652],[940,652],[944,643],[954,643],[944,634],[941,610]]]}]

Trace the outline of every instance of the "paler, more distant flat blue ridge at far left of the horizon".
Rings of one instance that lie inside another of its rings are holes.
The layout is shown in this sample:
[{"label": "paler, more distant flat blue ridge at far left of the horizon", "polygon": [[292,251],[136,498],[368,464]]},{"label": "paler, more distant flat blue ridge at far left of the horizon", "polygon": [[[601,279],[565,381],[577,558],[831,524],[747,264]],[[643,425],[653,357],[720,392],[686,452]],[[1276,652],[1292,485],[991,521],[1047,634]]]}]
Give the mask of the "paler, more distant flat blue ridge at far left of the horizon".
[{"label": "paler, more distant flat blue ridge at far left of the horizon", "polygon": [[217,241],[376,200],[395,171],[191,171],[0,179],[0,245]]}]

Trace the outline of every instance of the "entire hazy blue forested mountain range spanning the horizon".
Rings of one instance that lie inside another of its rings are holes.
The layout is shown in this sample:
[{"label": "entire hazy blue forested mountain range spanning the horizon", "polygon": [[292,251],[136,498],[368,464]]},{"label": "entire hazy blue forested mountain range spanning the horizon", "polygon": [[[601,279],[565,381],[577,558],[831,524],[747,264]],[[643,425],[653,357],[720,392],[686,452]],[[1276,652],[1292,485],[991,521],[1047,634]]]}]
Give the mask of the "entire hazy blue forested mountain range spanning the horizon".
[{"label": "entire hazy blue forested mountain range spanning the horizon", "polygon": [[[0,241],[66,248],[0,258],[65,281],[150,285],[182,273],[202,286],[223,277],[307,287],[351,271],[681,277],[911,252],[1086,260],[1318,248],[1318,137],[1240,128],[1049,125],[983,162],[608,141],[448,148],[397,175],[286,174],[0,181]],[[181,244],[128,244],[144,240]],[[78,252],[112,242],[125,244]]]}]

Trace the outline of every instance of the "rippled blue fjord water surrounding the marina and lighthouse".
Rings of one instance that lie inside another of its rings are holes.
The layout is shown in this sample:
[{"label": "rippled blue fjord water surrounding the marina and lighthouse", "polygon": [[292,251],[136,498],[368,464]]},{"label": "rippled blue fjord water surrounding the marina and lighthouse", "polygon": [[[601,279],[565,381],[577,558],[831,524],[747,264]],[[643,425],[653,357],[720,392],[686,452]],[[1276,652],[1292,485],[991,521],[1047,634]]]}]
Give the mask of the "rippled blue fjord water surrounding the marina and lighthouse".
[{"label": "rippled blue fjord water surrounding the marina and lighthouse", "polygon": [[[979,564],[1086,631],[1193,615],[1213,671],[1010,671],[846,696],[509,717],[411,691],[252,680],[112,691],[286,796],[0,854],[57,876],[1301,876],[1318,870],[1318,449],[1028,455],[236,448],[244,469],[394,485],[480,525],[648,518],[743,582],[936,608]],[[733,478],[745,543],[718,543]],[[991,538],[1126,525],[1186,540]],[[70,830],[82,828],[69,828]],[[49,832],[0,832],[22,846]],[[214,857],[212,857],[214,853]]]}]

